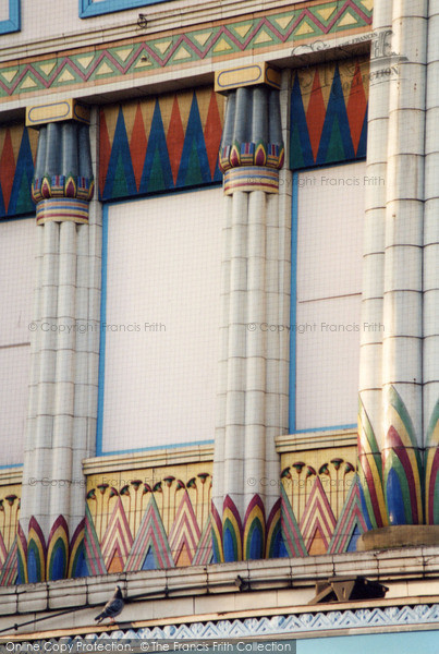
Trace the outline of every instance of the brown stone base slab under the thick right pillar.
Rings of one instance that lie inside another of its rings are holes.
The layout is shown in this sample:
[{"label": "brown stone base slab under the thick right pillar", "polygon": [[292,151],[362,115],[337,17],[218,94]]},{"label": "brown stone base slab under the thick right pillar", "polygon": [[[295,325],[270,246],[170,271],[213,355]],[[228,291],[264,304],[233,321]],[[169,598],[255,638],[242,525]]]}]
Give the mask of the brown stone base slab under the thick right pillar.
[{"label": "brown stone base slab under the thick right pillar", "polygon": [[395,524],[373,529],[359,536],[357,552],[392,549],[393,547],[418,547],[439,545],[438,524]]}]

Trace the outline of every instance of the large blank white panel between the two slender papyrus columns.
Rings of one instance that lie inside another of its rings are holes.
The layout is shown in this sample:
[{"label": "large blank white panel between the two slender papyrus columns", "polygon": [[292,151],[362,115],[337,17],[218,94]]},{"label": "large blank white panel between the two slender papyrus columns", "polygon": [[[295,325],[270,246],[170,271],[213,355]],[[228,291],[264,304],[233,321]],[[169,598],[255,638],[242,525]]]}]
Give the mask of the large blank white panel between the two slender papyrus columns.
[{"label": "large blank white panel between the two slender papyrus columns", "polygon": [[221,217],[220,189],[109,208],[103,452],[214,438]]}]

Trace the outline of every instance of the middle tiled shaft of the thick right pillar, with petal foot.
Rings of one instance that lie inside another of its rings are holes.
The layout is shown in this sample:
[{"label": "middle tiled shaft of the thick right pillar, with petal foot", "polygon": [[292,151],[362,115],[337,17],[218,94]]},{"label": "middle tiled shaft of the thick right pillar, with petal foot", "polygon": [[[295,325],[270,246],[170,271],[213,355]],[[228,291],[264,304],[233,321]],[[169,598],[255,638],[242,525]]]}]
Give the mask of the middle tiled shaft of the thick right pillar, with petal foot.
[{"label": "middle tiled shaft of the thick right pillar, with petal foot", "polygon": [[423,222],[426,0],[393,2],[382,351],[389,524],[423,524]]}]

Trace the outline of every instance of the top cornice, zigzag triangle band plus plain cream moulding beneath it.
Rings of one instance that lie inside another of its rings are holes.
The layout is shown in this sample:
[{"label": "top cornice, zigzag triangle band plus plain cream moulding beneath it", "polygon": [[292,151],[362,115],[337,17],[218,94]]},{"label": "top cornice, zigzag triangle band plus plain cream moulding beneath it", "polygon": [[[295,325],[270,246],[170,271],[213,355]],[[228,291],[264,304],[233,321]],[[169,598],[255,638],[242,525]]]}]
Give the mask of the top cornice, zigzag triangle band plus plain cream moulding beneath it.
[{"label": "top cornice, zigzag triangle band plus plain cream moulding beneath it", "polygon": [[105,104],[163,93],[172,85],[206,84],[224,66],[267,61],[293,68],[314,57],[333,58],[342,48],[340,56],[346,57],[352,49],[367,48],[371,15],[365,2],[343,3],[326,25],[318,14],[326,2],[318,0],[14,59],[0,65],[0,104],[3,111],[15,111],[40,99],[47,102],[48,94],[57,101],[74,94]]}]

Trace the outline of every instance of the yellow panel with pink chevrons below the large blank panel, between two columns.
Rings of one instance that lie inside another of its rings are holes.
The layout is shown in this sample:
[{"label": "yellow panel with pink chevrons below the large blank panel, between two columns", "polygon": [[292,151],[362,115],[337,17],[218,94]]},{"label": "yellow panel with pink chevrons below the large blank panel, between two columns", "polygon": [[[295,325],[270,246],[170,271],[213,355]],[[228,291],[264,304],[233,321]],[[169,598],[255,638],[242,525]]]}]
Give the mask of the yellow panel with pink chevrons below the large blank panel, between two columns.
[{"label": "yellow panel with pink chevrons below the large blank panel, between two columns", "polygon": [[90,574],[207,565],[211,462],[87,477]]}]

